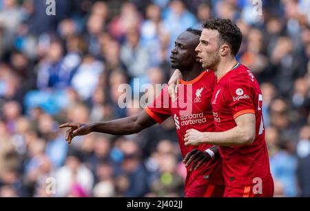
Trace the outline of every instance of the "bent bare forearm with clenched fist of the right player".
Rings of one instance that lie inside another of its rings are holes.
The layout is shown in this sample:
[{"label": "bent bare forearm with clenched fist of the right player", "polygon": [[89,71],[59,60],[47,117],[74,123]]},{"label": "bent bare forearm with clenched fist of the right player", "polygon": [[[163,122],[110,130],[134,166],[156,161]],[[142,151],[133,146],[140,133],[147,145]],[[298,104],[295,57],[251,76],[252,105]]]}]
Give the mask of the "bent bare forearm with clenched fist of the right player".
[{"label": "bent bare forearm with clenched fist of the right player", "polygon": [[185,134],[185,145],[198,146],[203,143],[215,144],[218,146],[241,146],[252,144],[256,133],[256,119],[253,113],[246,113],[236,118],[233,129],[225,132],[199,132],[188,130]]}]

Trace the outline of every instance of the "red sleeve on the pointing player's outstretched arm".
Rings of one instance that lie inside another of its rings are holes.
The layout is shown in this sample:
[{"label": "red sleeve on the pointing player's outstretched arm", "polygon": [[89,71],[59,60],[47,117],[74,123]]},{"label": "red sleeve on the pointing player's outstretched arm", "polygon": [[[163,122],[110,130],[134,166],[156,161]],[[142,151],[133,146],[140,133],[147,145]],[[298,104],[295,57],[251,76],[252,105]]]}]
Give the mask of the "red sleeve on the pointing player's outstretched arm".
[{"label": "red sleeve on the pointing player's outstretched arm", "polygon": [[159,124],[161,124],[172,115],[168,86],[166,86],[161,91],[161,93],[156,97],[154,102],[152,102],[151,104],[149,104],[148,107],[145,108],[145,111]]}]

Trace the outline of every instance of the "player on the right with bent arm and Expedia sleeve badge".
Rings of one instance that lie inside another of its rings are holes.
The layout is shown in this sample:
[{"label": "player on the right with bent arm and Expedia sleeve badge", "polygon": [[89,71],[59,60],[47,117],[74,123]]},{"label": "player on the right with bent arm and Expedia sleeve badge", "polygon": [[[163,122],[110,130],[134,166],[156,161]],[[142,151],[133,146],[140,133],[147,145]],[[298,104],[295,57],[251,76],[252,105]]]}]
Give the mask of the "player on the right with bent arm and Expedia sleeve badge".
[{"label": "player on the right with bent arm and Expedia sleeve badge", "polygon": [[262,92],[249,68],[236,61],[240,29],[228,19],[203,25],[196,47],[204,68],[217,76],[211,100],[216,132],[190,129],[185,145],[220,146],[224,197],[273,197],[273,179],[262,120]]}]

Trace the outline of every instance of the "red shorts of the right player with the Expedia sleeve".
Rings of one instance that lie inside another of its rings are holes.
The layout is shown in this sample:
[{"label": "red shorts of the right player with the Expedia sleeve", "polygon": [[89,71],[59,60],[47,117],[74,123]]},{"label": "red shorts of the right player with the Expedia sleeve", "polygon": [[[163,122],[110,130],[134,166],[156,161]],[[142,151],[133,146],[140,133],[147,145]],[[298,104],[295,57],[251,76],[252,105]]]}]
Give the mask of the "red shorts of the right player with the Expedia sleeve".
[{"label": "red shorts of the right player with the Expedia sleeve", "polygon": [[251,186],[234,186],[225,189],[224,197],[273,197],[273,179]]}]

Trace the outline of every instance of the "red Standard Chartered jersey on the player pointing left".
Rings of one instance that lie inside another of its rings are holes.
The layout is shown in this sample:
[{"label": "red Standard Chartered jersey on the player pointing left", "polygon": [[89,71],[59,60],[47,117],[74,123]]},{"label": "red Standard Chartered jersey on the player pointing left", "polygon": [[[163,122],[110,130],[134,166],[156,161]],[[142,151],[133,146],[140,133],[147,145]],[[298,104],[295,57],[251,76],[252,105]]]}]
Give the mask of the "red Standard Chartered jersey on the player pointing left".
[{"label": "red Standard Chartered jersey on the player pointing left", "polygon": [[[212,71],[203,71],[200,76],[192,81],[180,80],[176,102],[172,103],[167,88],[165,87],[156,100],[145,111],[160,123],[172,115],[176,124],[180,151],[183,158],[192,151],[195,146],[185,146],[184,136],[189,129],[198,131],[215,131],[214,118],[211,109],[211,98],[216,84],[216,76]],[[211,147],[210,144],[198,146],[201,151]],[[185,181],[185,191],[192,190],[207,184],[224,185],[221,159],[211,159],[200,166],[198,170],[189,172]],[[207,187],[207,186],[206,186]]]}]

